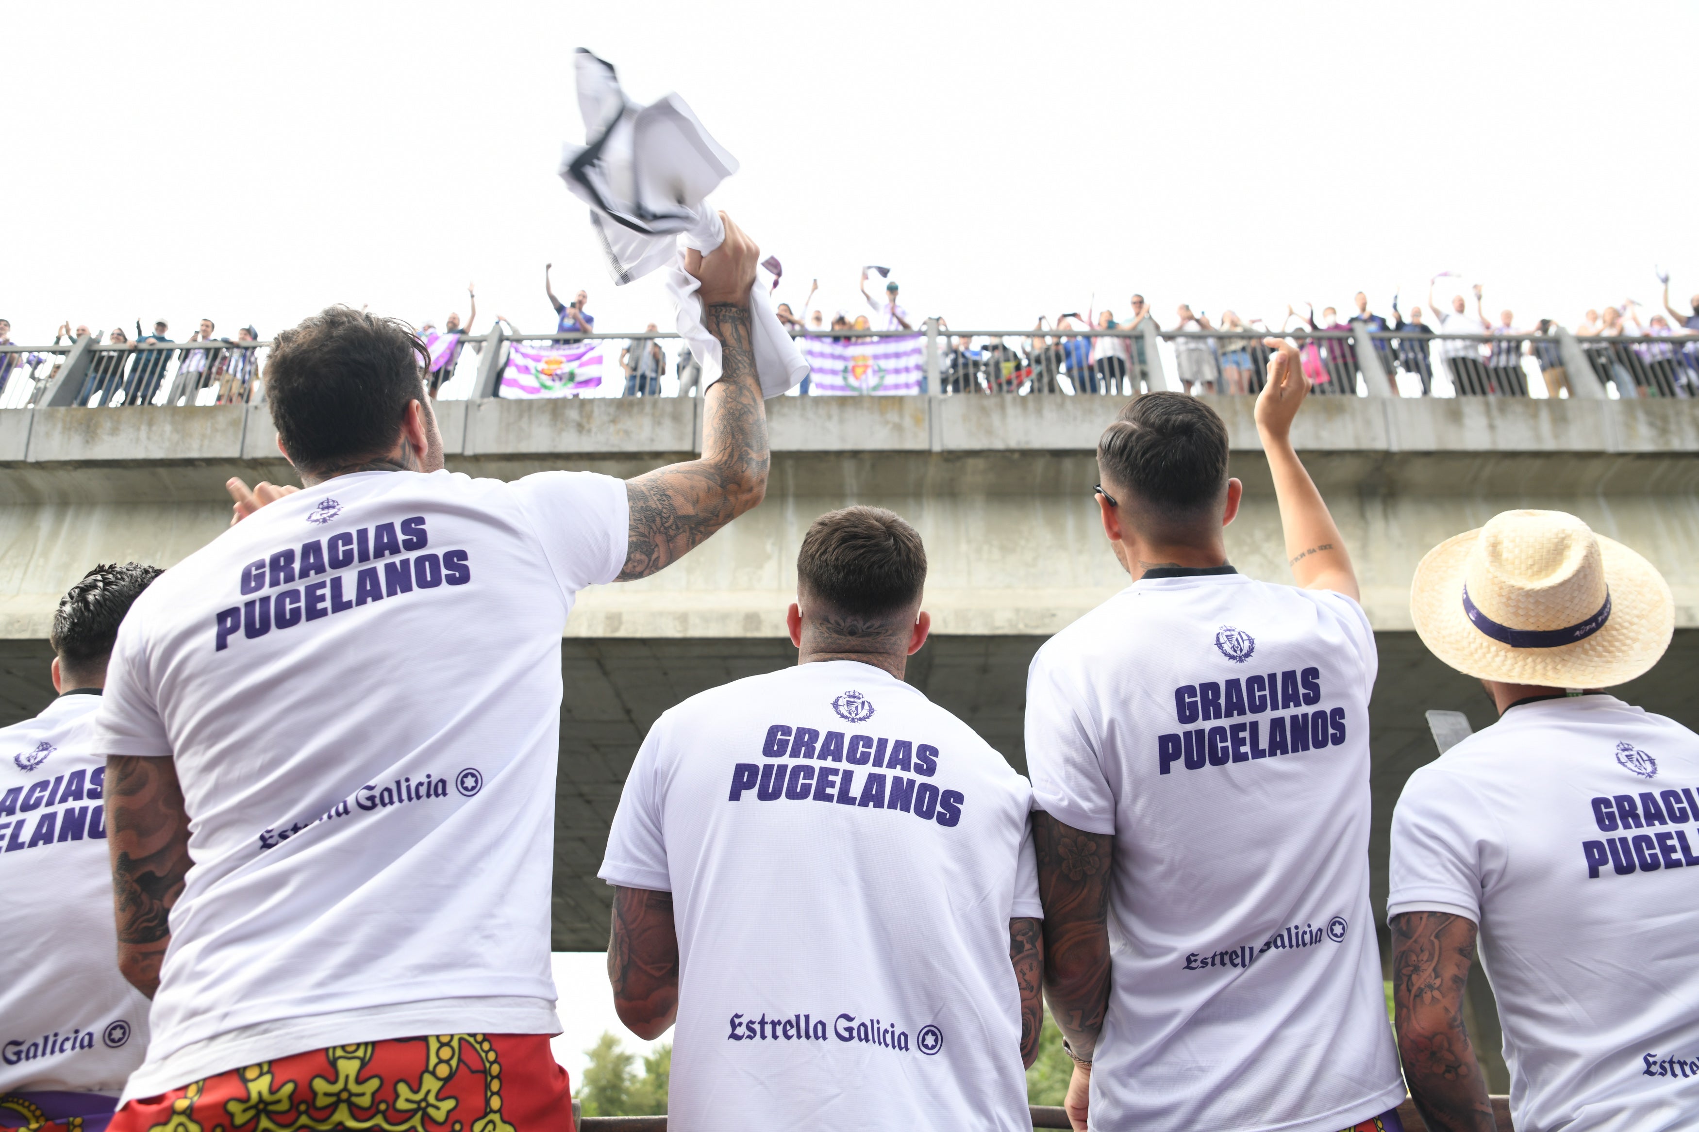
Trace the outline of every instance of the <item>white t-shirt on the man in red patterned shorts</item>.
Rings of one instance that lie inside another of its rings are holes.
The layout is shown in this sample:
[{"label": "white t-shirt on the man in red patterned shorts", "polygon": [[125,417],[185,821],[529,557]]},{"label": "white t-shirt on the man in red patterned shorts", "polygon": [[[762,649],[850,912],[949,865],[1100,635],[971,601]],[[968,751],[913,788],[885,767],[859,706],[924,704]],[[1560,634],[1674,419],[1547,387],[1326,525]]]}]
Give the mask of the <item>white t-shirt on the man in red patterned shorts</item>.
[{"label": "white t-shirt on the man in red patterned shorts", "polygon": [[605,475],[362,472],[148,587],[92,742],[175,759],[195,864],[126,1096],[340,1042],[559,1028],[561,633],[627,528]]}]

